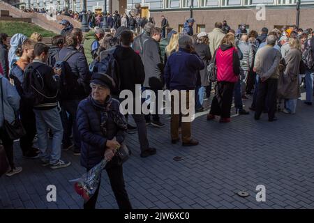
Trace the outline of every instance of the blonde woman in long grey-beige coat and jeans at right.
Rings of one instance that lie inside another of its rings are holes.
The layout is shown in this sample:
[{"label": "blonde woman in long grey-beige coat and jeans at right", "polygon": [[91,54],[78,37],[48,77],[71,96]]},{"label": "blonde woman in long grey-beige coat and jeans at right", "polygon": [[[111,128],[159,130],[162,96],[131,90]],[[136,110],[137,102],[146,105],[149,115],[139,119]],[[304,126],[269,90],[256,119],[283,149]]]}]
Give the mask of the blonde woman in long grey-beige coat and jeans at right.
[{"label": "blonde woman in long grey-beige coat and jeans at right", "polygon": [[290,51],[285,57],[285,71],[278,83],[278,96],[285,98],[285,114],[294,114],[297,98],[300,97],[299,70],[301,62],[301,45],[297,38],[290,38]]}]

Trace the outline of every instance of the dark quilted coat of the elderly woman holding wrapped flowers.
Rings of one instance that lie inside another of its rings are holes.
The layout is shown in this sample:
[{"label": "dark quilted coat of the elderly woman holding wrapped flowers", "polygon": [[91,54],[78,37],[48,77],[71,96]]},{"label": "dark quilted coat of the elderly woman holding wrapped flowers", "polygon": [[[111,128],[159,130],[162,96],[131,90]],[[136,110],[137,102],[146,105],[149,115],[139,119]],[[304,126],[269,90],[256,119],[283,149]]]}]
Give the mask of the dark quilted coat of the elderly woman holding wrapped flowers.
[{"label": "dark quilted coat of the elderly woman holding wrapped flowers", "polygon": [[[117,100],[112,99],[110,109],[119,111],[119,105]],[[112,117],[108,117],[107,138],[104,137],[100,128],[100,111],[94,107],[90,98],[82,100],[78,105],[77,128],[81,139],[81,164],[87,169],[104,159],[107,139],[116,137],[120,144],[125,139],[125,131],[117,128]],[[113,158],[107,167],[112,162],[117,164],[117,159]]]}]

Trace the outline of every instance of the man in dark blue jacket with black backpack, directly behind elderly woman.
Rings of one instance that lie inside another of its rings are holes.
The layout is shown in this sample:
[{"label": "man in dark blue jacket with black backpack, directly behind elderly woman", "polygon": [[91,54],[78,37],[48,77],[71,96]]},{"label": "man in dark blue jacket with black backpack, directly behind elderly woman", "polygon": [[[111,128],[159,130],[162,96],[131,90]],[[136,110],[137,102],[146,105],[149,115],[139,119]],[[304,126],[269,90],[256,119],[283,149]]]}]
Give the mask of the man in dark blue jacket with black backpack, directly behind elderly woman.
[{"label": "man in dark blue jacket with black backpack, directly behind elderly woman", "polygon": [[[79,102],[90,93],[91,73],[89,72],[86,57],[75,48],[76,46],[76,36],[66,36],[65,47],[59,52],[57,64],[62,72],[60,88],[61,114],[66,114],[66,112],[70,114],[70,123],[73,123],[73,126],[68,126],[68,129],[72,128],[73,130],[74,155],[80,155],[80,137],[76,125],[76,111]],[[65,123],[63,122],[63,125]],[[66,129],[66,126],[63,126],[63,128]],[[66,130],[64,132],[62,146],[64,150],[72,147],[70,131]]]}]

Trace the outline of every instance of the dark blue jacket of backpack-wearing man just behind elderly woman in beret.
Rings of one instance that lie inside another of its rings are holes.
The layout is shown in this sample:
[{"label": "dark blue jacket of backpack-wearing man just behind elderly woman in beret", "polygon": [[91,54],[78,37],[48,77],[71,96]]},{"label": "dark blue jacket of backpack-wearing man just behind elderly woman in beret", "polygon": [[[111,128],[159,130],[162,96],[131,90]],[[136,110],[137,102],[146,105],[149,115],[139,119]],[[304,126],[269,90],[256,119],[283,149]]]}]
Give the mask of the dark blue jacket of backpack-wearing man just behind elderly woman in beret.
[{"label": "dark blue jacket of backpack-wearing man just behind elderly woman in beret", "polygon": [[[63,47],[59,52],[59,60],[62,61],[65,59],[73,50],[77,49],[75,47]],[[72,91],[70,95],[61,95],[61,98],[67,96],[64,100],[83,99],[90,93],[89,83],[91,81],[91,73],[89,72],[87,59],[82,52],[77,51],[76,54],[68,59],[68,64],[72,72],[77,76],[77,82],[81,87],[77,91]]]}]

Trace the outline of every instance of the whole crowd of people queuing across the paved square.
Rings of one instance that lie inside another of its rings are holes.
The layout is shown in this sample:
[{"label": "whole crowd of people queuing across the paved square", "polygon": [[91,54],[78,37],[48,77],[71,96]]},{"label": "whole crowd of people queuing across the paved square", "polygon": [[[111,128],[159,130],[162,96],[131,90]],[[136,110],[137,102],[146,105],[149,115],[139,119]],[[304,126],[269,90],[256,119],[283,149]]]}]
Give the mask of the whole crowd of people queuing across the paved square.
[{"label": "whole crowd of people queuing across the paved square", "polygon": [[[118,16],[113,15],[113,21]],[[130,125],[128,114],[119,111],[119,102],[124,100],[119,98],[121,91],[135,95],[140,85],[140,91],[156,93],[156,102],[158,90],[177,90],[180,95],[187,91],[184,100],[179,98],[186,107],[189,94],[195,91],[193,105],[196,112],[202,112],[204,98],[210,98],[214,89],[207,120],[219,116],[220,123],[231,121],[232,100],[237,113],[248,114],[243,100],[253,95],[250,109],[254,118],[260,119],[264,112],[268,121],[276,121],[276,112],[295,113],[304,79],[305,103],[312,105],[312,29],[269,31],[264,27],[259,35],[253,30],[248,33],[245,24],[234,31],[223,21],[216,22],[210,33],[196,35],[195,20],[190,18],[182,33],[170,31],[165,36],[169,24],[164,16],[161,28],[152,21],[142,26],[131,19],[125,14],[119,27],[112,23],[113,32],[98,24],[85,35],[63,20],[64,29],[52,38],[50,47],[41,42],[39,33],[30,38],[16,33],[8,49],[8,35],[0,34],[1,141],[10,163],[6,176],[22,171],[15,166],[13,139],[4,128],[20,118],[25,129],[19,142],[24,157],[39,157],[41,165],[59,169],[70,166],[61,153],[73,148],[73,155],[80,155],[87,171],[105,157],[110,160],[106,170],[119,208],[131,208],[117,149],[130,137],[126,132],[137,131],[140,156],[155,155],[156,148],[149,146],[147,125],[161,128],[165,124],[156,106],[148,115],[130,114],[136,127]],[[140,35],[134,31],[138,24]],[[209,65],[216,68],[216,79],[209,78]],[[173,105],[174,100],[171,102]],[[171,143],[177,144],[181,134],[182,146],[196,146],[199,141],[192,137],[191,122],[181,121],[185,116],[175,114],[172,106]],[[97,196],[98,190],[84,208],[95,208]]]}]

